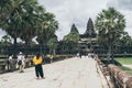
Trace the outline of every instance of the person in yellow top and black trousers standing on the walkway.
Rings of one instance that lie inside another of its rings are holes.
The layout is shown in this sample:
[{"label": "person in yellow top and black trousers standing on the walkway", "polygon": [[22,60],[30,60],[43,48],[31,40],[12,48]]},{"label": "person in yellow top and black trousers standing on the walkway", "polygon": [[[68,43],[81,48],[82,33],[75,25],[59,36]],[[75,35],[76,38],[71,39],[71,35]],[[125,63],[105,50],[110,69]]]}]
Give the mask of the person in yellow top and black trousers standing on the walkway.
[{"label": "person in yellow top and black trousers standing on the walkway", "polygon": [[44,78],[42,62],[43,62],[43,58],[40,55],[40,53],[37,53],[36,56],[33,57],[33,63],[35,65],[36,79],[40,79],[40,76],[41,78]]}]

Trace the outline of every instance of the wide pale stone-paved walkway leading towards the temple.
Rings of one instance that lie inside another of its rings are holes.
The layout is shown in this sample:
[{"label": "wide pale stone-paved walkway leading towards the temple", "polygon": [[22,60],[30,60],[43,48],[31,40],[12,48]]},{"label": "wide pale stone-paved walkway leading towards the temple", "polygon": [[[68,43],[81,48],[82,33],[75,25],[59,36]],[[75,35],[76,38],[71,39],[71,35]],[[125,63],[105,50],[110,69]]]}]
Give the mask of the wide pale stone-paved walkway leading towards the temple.
[{"label": "wide pale stone-paved walkway leading towards the temple", "polygon": [[96,62],[82,56],[43,66],[45,79],[35,78],[34,67],[0,75],[0,88],[108,88]]}]

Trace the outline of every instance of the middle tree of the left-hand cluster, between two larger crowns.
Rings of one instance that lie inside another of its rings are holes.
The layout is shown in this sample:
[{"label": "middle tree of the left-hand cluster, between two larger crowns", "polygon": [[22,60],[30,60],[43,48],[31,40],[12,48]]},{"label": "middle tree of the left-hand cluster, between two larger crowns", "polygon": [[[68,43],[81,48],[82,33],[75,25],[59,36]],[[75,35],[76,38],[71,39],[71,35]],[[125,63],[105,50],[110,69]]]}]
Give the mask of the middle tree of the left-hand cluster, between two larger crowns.
[{"label": "middle tree of the left-hand cluster, between two larger crowns", "polygon": [[41,23],[40,13],[44,13],[45,10],[41,6],[32,6],[30,9],[28,9],[28,12],[23,15],[23,31],[20,36],[22,41],[25,42],[25,45],[30,45],[32,42],[32,38],[37,35],[37,30],[40,29],[38,24]]}]

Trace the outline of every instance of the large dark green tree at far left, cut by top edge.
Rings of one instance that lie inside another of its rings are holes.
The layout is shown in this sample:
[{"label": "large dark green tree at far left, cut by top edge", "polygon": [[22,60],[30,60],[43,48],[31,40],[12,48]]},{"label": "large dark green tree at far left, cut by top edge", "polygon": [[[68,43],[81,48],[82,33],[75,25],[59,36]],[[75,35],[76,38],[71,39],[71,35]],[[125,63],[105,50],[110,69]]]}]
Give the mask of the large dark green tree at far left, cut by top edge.
[{"label": "large dark green tree at far left, cut by top edge", "polygon": [[[16,38],[22,37],[22,34],[25,32],[29,32],[29,29],[31,30],[31,23],[29,22],[29,18],[31,14],[34,14],[34,18],[36,16],[36,9],[37,0],[2,0],[3,3],[1,8],[2,11],[2,19],[1,20],[1,29],[7,32],[13,40],[14,40],[14,51],[16,46]],[[6,4],[6,3],[7,4]],[[9,9],[10,8],[10,9]],[[7,10],[9,9],[9,10]],[[8,12],[8,15],[7,15]],[[30,18],[30,21],[35,22],[34,18]],[[29,28],[29,29],[28,29]],[[33,29],[34,32],[34,29]],[[29,32],[30,34],[30,32]],[[31,34],[33,36],[33,34]],[[31,40],[31,36],[28,40]],[[24,38],[24,40],[25,40]],[[16,51],[14,52],[16,54]]]}]

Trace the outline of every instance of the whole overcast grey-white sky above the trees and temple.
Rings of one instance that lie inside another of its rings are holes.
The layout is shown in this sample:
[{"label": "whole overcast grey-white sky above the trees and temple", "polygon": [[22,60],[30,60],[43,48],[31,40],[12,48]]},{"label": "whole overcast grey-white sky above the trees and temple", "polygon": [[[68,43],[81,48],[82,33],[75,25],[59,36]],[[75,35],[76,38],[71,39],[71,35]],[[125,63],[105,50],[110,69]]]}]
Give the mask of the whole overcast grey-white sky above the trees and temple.
[{"label": "whole overcast grey-white sky above the trees and temple", "polygon": [[[59,40],[68,34],[73,23],[79,33],[86,31],[88,19],[95,22],[102,9],[114,7],[124,14],[127,20],[125,31],[132,36],[132,0],[38,0],[46,11],[56,15],[59,29],[56,32]],[[0,36],[4,34],[0,32]]]}]

